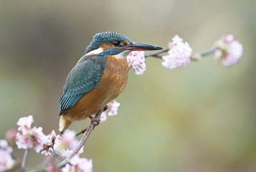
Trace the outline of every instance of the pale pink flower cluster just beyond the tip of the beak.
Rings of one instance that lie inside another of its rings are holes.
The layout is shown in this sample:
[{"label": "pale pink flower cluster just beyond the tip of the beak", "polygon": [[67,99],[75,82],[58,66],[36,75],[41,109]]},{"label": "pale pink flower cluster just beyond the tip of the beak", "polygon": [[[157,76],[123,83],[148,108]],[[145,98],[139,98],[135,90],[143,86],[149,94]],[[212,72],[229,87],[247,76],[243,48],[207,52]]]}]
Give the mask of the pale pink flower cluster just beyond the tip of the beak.
[{"label": "pale pink flower cluster just beyond the tip of the beak", "polygon": [[183,42],[182,38],[175,35],[172,42],[168,44],[170,51],[167,56],[163,56],[162,65],[166,68],[184,67],[190,62],[192,53],[191,47],[188,42]]}]

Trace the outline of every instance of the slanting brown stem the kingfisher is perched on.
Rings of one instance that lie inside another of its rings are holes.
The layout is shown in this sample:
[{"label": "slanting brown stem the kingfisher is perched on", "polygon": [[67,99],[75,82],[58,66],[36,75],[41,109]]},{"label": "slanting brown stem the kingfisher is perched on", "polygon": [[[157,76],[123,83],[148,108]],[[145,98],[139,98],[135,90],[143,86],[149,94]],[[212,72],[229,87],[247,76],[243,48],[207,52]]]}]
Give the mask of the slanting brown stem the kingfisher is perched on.
[{"label": "slanting brown stem the kingfisher is perched on", "polygon": [[[99,120],[100,115],[103,113],[103,111],[105,111],[105,107],[100,109],[99,113],[95,115],[95,118]],[[88,137],[90,136],[92,130],[95,128],[96,125],[97,125],[96,121],[91,121],[90,126],[87,127],[87,130],[84,133],[84,136],[79,141],[77,147],[73,150],[71,155],[67,157],[67,159],[63,160],[62,162],[60,162],[60,164],[58,164],[58,168],[63,168],[69,162],[69,160],[72,159],[72,157],[74,157],[74,155],[76,155],[79,152],[79,150],[82,148],[82,146],[84,145],[84,143],[86,142],[86,140],[88,139]]]}]

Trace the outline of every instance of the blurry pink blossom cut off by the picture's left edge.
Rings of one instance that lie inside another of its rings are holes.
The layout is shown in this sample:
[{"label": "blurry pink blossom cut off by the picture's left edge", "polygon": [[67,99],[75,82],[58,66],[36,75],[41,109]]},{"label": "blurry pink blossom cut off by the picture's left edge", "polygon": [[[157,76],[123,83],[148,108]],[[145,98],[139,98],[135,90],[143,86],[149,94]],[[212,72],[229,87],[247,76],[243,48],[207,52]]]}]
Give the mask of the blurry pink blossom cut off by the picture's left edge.
[{"label": "blurry pink blossom cut off by the picture's left edge", "polygon": [[13,149],[8,146],[6,140],[0,140],[0,171],[11,169],[15,165],[15,160],[12,159]]}]

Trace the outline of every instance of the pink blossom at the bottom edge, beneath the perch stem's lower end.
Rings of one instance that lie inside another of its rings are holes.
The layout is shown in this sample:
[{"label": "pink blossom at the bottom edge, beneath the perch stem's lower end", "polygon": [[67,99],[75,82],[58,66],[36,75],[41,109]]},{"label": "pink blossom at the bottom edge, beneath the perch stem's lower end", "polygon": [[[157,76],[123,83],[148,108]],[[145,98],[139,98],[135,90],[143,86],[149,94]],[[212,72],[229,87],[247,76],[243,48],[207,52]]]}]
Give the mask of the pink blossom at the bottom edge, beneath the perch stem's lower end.
[{"label": "pink blossom at the bottom edge, beneath the perch stem's lower end", "polygon": [[70,164],[62,169],[63,172],[92,172],[92,159],[79,158],[78,155],[75,155],[70,160]]}]

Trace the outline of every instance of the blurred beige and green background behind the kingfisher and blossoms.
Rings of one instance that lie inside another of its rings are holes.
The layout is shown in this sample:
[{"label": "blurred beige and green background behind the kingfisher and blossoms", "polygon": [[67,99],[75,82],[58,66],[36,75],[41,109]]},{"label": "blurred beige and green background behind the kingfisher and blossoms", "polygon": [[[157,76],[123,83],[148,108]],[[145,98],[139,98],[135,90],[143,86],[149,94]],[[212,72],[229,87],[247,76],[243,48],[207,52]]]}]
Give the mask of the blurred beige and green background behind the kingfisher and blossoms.
[{"label": "blurred beige and green background behind the kingfisher and blossoms", "polygon": [[[225,33],[244,46],[230,68],[213,56],[168,70],[147,58],[116,98],[118,115],[92,133],[82,157],[93,171],[256,171],[256,1],[0,2],[0,134],[32,114],[45,134],[58,130],[68,72],[95,33],[117,31],[166,47],[174,35],[203,52]],[[72,130],[90,120],[73,123]],[[15,149],[22,158],[24,150]],[[33,151],[28,166],[44,155]]]}]

